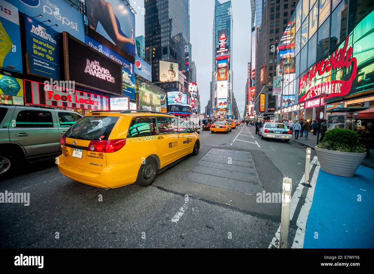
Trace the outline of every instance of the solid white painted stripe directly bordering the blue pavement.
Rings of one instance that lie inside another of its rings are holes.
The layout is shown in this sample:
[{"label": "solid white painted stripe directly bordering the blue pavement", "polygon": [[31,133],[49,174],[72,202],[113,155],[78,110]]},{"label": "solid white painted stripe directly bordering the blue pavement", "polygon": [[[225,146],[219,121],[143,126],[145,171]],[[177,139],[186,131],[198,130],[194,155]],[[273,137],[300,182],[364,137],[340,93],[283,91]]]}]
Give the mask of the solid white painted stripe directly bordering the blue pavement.
[{"label": "solid white painted stripe directly bordering the blue pavement", "polygon": [[310,180],[310,185],[312,187],[308,189],[308,193],[306,194],[306,197],[305,197],[305,203],[303,204],[303,206],[301,206],[300,214],[297,217],[297,221],[296,221],[297,230],[295,234],[294,243],[292,244],[292,248],[303,248],[304,247],[306,222],[308,220],[310,208],[312,207],[313,195],[314,195],[314,190],[315,190],[316,183],[317,183],[318,173],[319,173],[319,164],[316,166],[316,169],[313,173],[312,180]]}]

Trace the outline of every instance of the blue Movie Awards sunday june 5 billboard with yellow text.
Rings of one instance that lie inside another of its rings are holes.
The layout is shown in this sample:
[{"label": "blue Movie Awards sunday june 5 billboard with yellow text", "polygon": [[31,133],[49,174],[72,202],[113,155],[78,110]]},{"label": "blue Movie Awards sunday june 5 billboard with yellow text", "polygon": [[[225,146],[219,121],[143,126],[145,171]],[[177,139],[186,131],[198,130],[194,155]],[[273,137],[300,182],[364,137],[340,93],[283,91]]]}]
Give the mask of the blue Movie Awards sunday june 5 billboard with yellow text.
[{"label": "blue Movie Awards sunday june 5 billboard with yellow text", "polygon": [[58,32],[26,14],[24,18],[30,73],[61,79]]}]

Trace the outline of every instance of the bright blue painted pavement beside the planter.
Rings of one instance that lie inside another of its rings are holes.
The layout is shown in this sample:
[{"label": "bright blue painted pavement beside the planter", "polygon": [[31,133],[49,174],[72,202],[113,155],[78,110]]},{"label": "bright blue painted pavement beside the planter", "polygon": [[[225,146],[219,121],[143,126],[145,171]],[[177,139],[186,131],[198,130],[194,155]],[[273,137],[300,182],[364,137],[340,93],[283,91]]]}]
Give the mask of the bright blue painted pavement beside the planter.
[{"label": "bright blue painted pavement beside the planter", "polygon": [[353,177],[319,171],[304,248],[374,247],[373,178],[374,169],[363,165]]}]

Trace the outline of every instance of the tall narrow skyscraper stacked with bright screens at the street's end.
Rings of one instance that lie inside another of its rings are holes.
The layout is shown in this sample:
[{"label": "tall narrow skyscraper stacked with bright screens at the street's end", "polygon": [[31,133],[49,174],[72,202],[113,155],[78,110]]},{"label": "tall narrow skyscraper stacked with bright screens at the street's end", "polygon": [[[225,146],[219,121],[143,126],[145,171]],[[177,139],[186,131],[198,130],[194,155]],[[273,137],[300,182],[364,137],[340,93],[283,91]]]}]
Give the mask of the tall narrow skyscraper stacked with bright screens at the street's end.
[{"label": "tall narrow skyscraper stacked with bright screens at the street's end", "polygon": [[233,95],[233,17],[231,1],[215,0],[212,47],[212,116],[229,114]]}]

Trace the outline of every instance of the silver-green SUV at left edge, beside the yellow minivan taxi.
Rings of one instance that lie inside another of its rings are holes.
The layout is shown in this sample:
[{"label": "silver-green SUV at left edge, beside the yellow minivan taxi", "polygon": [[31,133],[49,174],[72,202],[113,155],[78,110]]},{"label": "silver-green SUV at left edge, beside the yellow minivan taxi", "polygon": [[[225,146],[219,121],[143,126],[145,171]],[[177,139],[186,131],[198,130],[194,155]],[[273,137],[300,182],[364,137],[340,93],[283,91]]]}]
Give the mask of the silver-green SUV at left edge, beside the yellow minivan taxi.
[{"label": "silver-green SUV at left edge, beside the yellow minivan taxi", "polygon": [[0,104],[0,176],[61,154],[59,140],[82,115],[44,106]]}]

